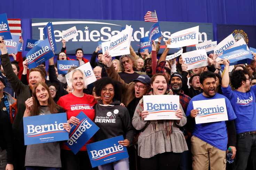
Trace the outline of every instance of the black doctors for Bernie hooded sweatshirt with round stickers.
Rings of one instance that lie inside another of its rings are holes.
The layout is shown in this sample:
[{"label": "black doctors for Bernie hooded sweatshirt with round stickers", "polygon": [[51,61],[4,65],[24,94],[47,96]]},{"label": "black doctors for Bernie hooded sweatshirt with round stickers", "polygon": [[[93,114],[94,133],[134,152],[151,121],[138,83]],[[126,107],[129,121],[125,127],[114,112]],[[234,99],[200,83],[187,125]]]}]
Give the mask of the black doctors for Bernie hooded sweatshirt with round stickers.
[{"label": "black doctors for Bernie hooded sweatshirt with round stickers", "polygon": [[120,101],[114,101],[110,105],[103,105],[102,100],[95,105],[94,123],[99,127],[95,134],[95,141],[122,135],[133,141],[134,128],[126,107],[120,106]]}]

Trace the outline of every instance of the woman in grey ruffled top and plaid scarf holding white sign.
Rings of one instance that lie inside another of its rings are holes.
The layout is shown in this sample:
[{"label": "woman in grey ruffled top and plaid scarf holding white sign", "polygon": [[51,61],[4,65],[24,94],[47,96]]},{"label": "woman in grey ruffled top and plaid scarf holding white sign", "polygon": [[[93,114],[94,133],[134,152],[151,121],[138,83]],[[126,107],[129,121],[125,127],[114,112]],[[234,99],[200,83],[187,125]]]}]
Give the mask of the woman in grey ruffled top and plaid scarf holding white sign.
[{"label": "woman in grey ruffled top and plaid scarf holding white sign", "polygon": [[[172,95],[167,90],[167,78],[161,73],[151,78],[150,95]],[[132,124],[141,131],[138,137],[138,155],[142,170],[177,169],[181,153],[188,150],[185,137],[179,130],[187,122],[182,106],[175,115],[180,120],[144,120],[149,112],[143,109],[143,99],[136,107]]]}]

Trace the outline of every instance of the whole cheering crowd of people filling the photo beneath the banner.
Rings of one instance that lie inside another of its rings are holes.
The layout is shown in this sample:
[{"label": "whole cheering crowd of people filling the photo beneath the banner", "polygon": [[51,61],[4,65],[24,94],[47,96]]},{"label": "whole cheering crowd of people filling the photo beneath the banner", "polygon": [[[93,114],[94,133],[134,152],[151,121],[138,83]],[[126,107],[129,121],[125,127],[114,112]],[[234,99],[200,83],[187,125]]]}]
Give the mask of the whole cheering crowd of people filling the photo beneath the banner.
[{"label": "whole cheering crowd of people filling the photo beneath the banner", "polygon": [[[0,37],[0,170],[256,170],[256,53],[251,63],[235,66],[210,53],[207,66],[187,70],[182,55],[166,61],[170,39],[157,59],[161,40],[152,41],[151,53],[136,53],[130,46],[130,54],[119,57],[96,47],[90,61],[81,48],[75,59],[68,57],[63,40],[57,62],[90,62],[97,81],[87,84],[77,67],[69,69],[67,83],[65,75],[58,74],[54,56],[47,61],[48,70],[45,63],[28,70],[21,52],[12,54],[11,62]],[[145,120],[145,95],[178,95],[175,115],[180,119]],[[228,120],[195,124],[199,110],[193,101],[221,98]],[[80,123],[76,116],[81,111],[99,130],[77,154],[65,141],[24,145],[23,117],[66,112],[63,127],[70,132],[71,124]],[[86,145],[119,135],[129,158],[92,168]],[[228,148],[234,159],[230,165]]]}]

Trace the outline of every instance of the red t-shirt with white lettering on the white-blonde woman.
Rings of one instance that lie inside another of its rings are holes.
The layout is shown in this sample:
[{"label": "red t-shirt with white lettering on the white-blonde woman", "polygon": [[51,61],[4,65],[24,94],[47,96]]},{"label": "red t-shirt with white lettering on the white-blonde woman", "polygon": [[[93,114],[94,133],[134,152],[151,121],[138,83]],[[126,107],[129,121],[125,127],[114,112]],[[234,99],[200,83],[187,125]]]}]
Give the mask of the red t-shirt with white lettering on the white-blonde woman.
[{"label": "red t-shirt with white lettering on the white-blonde woman", "polygon": [[[57,104],[66,111],[67,120],[70,119],[71,116],[77,116],[81,111],[86,114],[91,120],[94,119],[94,105],[97,101],[94,99],[92,95],[84,94],[83,97],[74,96],[72,93],[68,95],[62,96],[59,98]],[[90,139],[86,144],[92,143],[93,140]],[[80,151],[86,151],[86,144],[80,149]],[[61,145],[62,149],[70,150],[69,147],[65,143]]]}]

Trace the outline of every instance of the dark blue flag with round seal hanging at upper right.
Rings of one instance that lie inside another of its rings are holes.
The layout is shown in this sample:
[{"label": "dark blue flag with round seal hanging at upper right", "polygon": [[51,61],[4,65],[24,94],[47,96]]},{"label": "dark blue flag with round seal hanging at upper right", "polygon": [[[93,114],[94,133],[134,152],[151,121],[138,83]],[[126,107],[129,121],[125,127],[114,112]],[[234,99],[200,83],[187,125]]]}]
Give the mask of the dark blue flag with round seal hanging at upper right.
[{"label": "dark blue flag with round seal hanging at upper right", "polygon": [[218,42],[230,34],[236,41],[243,38],[249,47],[256,48],[256,26],[253,25],[217,25]]}]

